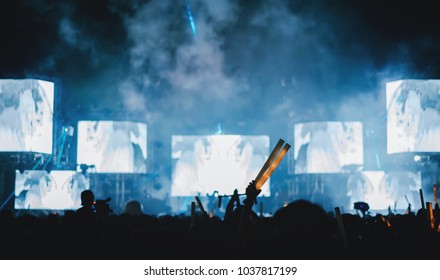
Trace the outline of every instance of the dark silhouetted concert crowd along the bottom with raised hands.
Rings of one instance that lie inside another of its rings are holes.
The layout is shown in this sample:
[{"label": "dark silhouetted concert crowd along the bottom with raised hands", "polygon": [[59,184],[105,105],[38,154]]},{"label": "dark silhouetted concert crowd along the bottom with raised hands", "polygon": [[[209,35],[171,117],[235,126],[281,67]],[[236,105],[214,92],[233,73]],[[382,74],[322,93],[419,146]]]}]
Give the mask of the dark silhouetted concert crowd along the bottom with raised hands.
[{"label": "dark silhouetted concert crowd along the bottom with raised hands", "polygon": [[[435,259],[440,210],[375,216],[326,212],[296,200],[271,217],[253,211],[255,183],[223,217],[149,215],[137,201],[112,214],[92,191],[82,207],[37,217],[0,212],[1,259]],[[103,207],[104,206],[104,207]],[[428,217],[432,217],[430,220]],[[342,227],[341,227],[342,225]]]}]

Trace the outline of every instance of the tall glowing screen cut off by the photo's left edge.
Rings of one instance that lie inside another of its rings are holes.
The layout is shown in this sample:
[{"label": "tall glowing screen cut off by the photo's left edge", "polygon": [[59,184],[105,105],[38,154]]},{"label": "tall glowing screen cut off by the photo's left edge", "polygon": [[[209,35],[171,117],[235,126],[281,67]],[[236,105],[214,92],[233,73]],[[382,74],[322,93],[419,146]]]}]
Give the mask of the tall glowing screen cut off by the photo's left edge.
[{"label": "tall glowing screen cut off by the photo's left edge", "polygon": [[54,83],[0,80],[0,152],[52,153]]}]

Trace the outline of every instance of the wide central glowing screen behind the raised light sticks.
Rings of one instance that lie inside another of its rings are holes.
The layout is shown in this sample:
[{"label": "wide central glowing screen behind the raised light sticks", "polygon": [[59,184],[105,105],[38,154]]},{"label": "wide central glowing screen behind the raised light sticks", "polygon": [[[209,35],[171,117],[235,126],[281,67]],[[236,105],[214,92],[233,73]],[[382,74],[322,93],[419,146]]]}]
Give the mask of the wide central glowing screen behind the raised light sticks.
[{"label": "wide central glowing screen behind the raised light sticks", "polygon": [[[269,142],[269,136],[173,136],[171,195],[244,193],[268,157]],[[270,195],[269,181],[261,195]]]}]

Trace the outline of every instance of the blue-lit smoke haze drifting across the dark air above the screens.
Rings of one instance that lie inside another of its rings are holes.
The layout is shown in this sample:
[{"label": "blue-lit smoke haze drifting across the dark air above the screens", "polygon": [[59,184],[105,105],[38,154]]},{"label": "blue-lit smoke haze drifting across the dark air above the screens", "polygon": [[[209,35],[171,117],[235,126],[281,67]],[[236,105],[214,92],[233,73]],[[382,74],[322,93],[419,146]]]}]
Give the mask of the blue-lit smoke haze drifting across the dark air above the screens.
[{"label": "blue-lit smoke haze drifting across the dark air above the screens", "polygon": [[[33,3],[26,4],[34,11],[31,22],[56,26],[55,34],[61,37],[59,43],[47,44],[51,51],[43,53],[44,57],[35,58],[41,62],[38,69],[70,75],[65,84],[76,86],[70,91],[79,102],[111,107],[118,92],[123,109],[129,112],[194,125],[201,120],[213,123],[232,118],[254,121],[258,126],[291,116],[298,120],[368,121],[377,110],[361,104],[381,100],[377,90],[380,76],[387,75],[383,69],[390,64],[395,72],[399,67],[410,69],[410,63],[396,65],[396,61],[410,61],[414,53],[405,41],[380,44],[383,38],[371,36],[376,30],[361,25],[361,20],[356,21],[356,28],[350,26],[349,20],[359,13],[354,4],[110,1],[99,4],[98,8],[106,11],[104,18],[118,15],[123,21],[101,22],[93,13],[79,10],[85,2]],[[195,19],[195,36],[186,3]],[[127,37],[118,38],[117,45],[116,39],[107,44],[113,30],[120,28],[118,24],[125,24],[122,29]],[[98,28],[89,28],[94,25]],[[377,44],[380,52],[375,51]],[[69,60],[69,56],[75,59]],[[108,70],[120,65],[127,67]],[[284,134],[282,125],[270,129]]]}]

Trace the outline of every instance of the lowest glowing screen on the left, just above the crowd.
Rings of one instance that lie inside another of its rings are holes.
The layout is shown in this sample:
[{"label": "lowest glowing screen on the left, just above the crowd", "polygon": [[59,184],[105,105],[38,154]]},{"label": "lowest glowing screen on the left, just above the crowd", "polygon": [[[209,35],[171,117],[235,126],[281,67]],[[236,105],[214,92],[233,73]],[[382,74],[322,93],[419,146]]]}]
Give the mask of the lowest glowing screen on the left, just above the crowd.
[{"label": "lowest glowing screen on the left, just above the crowd", "polygon": [[15,172],[15,209],[67,210],[81,207],[89,180],[71,170]]}]

